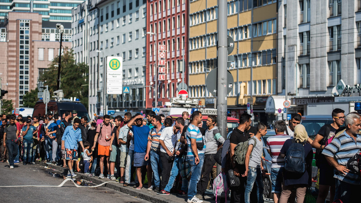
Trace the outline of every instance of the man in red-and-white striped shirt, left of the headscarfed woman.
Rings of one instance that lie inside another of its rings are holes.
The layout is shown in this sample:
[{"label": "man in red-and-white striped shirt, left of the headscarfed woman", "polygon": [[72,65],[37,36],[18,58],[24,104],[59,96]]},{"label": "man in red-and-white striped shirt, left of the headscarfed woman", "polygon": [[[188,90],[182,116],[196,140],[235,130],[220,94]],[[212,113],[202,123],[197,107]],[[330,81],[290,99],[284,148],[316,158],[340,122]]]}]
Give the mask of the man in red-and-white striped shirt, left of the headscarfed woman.
[{"label": "man in red-and-white striped shirt, left of the headscarfed woman", "polygon": [[274,122],[274,128],[276,135],[267,138],[266,149],[272,157],[271,182],[273,200],[275,203],[278,203],[282,192],[282,171],[284,165],[284,158],[280,156],[280,151],[284,142],[292,138],[292,136],[284,134],[284,131],[286,131],[286,123],[283,120]]}]

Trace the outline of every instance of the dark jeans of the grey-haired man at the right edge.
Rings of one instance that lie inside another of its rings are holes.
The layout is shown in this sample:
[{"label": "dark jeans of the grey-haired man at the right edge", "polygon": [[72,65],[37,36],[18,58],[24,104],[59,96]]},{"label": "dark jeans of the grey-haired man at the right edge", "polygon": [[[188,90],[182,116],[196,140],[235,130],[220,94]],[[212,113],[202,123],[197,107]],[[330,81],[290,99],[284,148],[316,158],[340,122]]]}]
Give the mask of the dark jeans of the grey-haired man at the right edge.
[{"label": "dark jeans of the grey-haired man at the right edge", "polygon": [[360,184],[353,185],[335,178],[335,200],[340,199],[342,202],[359,202],[360,201]]}]

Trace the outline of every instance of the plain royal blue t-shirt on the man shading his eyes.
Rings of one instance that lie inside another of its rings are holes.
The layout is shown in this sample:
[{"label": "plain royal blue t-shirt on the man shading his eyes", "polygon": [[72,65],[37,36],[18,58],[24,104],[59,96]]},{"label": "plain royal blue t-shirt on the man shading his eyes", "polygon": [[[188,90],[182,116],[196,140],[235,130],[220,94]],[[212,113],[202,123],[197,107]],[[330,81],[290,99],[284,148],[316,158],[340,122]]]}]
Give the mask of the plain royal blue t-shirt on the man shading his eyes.
[{"label": "plain royal blue t-shirt on the man shading his eyes", "polygon": [[147,151],[148,134],[151,129],[147,125],[142,127],[132,125],[132,131],[134,134],[134,152],[145,153]]}]

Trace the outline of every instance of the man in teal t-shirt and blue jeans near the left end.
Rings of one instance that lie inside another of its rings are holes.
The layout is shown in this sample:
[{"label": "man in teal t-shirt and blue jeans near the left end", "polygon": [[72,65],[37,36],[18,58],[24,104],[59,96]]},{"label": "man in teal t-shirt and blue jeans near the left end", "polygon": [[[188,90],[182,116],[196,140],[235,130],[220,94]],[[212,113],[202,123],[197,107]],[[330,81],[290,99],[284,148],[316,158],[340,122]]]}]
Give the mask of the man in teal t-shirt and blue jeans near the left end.
[{"label": "man in teal t-shirt and blue jeans near the left end", "polygon": [[24,127],[22,128],[22,137],[23,137],[23,165],[27,163],[32,163],[32,145],[34,141],[32,137],[36,134],[38,130],[34,125],[31,125],[31,120],[27,119],[24,122]]}]

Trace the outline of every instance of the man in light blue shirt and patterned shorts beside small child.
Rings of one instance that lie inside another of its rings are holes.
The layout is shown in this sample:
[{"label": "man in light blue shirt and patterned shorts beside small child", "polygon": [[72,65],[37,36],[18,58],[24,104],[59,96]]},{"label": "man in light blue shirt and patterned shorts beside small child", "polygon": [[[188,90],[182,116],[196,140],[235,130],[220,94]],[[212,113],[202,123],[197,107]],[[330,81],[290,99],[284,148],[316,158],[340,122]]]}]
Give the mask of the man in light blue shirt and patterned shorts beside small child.
[{"label": "man in light blue shirt and patterned shorts beside small child", "polygon": [[79,118],[74,119],[74,124],[65,128],[63,137],[61,138],[61,149],[65,150],[65,159],[68,160],[68,177],[76,177],[73,172],[73,160],[77,160],[78,142],[83,146],[82,133],[79,127],[81,121]]}]

